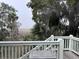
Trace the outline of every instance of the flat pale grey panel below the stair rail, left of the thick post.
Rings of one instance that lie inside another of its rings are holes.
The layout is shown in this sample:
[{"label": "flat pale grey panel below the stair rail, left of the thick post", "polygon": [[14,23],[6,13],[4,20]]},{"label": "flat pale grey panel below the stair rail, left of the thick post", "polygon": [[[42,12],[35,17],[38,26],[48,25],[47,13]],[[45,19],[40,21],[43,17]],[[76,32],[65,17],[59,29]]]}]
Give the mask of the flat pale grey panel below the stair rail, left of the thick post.
[{"label": "flat pale grey panel below the stair rail, left of the thick post", "polygon": [[56,55],[53,50],[38,50],[32,51],[29,58],[56,58]]}]

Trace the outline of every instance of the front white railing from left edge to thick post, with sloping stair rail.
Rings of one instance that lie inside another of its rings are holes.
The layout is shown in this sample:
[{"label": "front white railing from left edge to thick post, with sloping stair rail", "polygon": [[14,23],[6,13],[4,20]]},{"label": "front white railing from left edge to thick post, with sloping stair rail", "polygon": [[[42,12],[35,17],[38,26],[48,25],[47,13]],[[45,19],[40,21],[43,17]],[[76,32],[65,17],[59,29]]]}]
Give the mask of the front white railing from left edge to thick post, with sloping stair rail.
[{"label": "front white railing from left edge to thick post, with sloping stair rail", "polygon": [[63,59],[63,40],[0,41],[0,59],[29,59],[33,51],[53,51],[56,59]]}]

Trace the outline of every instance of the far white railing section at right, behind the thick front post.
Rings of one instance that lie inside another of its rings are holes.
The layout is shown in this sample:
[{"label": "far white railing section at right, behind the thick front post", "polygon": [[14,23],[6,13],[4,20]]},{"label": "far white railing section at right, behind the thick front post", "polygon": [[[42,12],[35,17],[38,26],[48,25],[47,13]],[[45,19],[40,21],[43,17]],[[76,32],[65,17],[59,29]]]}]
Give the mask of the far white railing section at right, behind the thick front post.
[{"label": "far white railing section at right, behind the thick front post", "polygon": [[79,55],[79,38],[70,36],[54,36],[54,39],[61,38],[64,40],[64,50],[69,50]]}]

